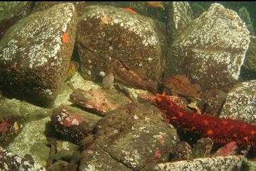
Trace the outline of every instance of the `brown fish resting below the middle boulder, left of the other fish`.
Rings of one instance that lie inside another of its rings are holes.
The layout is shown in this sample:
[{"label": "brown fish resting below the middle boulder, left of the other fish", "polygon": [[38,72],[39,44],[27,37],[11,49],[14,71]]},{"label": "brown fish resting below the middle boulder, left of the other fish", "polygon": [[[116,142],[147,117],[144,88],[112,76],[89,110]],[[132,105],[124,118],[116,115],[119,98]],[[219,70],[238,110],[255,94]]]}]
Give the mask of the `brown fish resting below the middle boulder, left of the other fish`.
[{"label": "brown fish resting below the middle boulder, left of the other fish", "polygon": [[137,87],[140,89],[146,89],[152,93],[157,91],[157,82],[146,80],[146,72],[143,69],[133,70],[124,62],[114,59],[110,63],[112,72],[114,74],[114,80],[125,86]]}]

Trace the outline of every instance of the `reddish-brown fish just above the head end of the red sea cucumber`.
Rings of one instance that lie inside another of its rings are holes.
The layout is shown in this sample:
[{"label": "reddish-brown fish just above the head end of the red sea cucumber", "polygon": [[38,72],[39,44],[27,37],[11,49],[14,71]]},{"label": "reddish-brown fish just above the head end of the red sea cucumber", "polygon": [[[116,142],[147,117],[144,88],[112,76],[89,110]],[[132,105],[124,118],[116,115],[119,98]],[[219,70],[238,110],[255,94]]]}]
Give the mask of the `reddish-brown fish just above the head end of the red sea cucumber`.
[{"label": "reddish-brown fish just above the head end of the red sea cucumber", "polygon": [[184,75],[166,76],[161,80],[166,89],[170,89],[172,93],[177,93],[185,97],[201,97],[200,85],[191,84],[190,80]]}]

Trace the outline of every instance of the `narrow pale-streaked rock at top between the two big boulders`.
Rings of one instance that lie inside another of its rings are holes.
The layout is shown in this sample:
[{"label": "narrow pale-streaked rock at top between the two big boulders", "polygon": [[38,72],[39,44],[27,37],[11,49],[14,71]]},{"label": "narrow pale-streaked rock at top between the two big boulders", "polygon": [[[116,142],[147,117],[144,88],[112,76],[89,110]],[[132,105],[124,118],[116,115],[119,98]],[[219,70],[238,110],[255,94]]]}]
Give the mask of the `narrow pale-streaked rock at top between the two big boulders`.
[{"label": "narrow pale-streaked rock at top between the two big boulders", "polygon": [[193,21],[193,11],[190,4],[186,1],[175,1],[171,3],[172,7],[169,13],[168,28],[171,39],[176,39]]}]

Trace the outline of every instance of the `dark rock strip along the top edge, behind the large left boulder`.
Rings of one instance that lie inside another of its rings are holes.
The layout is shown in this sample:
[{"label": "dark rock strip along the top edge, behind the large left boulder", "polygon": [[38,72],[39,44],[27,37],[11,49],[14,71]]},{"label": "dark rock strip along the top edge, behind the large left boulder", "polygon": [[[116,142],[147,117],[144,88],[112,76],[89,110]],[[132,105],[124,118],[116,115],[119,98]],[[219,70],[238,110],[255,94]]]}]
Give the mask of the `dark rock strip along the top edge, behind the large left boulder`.
[{"label": "dark rock strip along the top edge, behind the large left boulder", "polygon": [[43,11],[60,3],[73,3],[74,7],[77,9],[77,16],[81,16],[86,7],[85,1],[37,1],[35,2],[35,7],[32,12]]}]

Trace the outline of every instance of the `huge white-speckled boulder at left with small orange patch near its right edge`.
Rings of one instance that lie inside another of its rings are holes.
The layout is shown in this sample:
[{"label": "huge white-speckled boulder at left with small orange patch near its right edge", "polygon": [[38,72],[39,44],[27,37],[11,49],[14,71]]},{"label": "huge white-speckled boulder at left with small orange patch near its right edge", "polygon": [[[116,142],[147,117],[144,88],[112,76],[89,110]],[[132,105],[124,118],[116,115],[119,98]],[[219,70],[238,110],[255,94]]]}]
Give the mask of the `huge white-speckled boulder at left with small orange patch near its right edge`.
[{"label": "huge white-speckled boulder at left with small orange patch near its right edge", "polygon": [[3,95],[49,106],[54,103],[74,47],[77,14],[62,3],[16,22],[0,42]]}]

